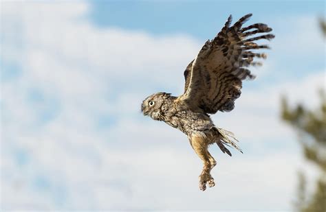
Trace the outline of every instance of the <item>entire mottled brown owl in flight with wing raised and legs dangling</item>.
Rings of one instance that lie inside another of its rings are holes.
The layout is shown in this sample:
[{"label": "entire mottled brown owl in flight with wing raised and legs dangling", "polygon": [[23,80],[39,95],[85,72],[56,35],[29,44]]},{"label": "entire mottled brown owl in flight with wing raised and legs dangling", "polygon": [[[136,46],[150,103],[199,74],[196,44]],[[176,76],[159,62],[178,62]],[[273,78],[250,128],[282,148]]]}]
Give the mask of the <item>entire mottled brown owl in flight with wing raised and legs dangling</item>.
[{"label": "entire mottled brown owl in flight with wing raised and legs dangling", "polygon": [[254,49],[268,49],[254,40],[274,38],[272,31],[263,23],[242,27],[252,14],[243,16],[231,26],[228,17],[221,32],[213,40],[207,40],[198,55],[184,71],[184,94],[174,97],[170,93],[155,93],[142,102],[141,110],[154,120],[164,121],[187,135],[193,150],[202,159],[204,167],[199,176],[199,189],[215,185],[210,170],[216,165],[208,152],[208,145],[216,143],[222,152],[232,155],[226,148],[232,146],[240,152],[232,132],[214,125],[209,114],[229,112],[235,108],[235,99],[241,95],[242,80],[252,80],[254,75],[247,67],[261,65],[254,58],[266,58]]}]

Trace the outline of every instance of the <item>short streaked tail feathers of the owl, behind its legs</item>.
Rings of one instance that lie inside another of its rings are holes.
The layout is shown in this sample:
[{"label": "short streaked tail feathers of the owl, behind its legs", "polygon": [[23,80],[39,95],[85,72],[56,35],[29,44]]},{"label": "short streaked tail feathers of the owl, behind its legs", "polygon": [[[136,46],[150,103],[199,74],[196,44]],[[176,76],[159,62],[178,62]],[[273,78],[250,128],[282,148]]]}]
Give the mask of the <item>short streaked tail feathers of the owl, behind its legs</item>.
[{"label": "short streaked tail feathers of the owl, behind its legs", "polygon": [[237,142],[239,141],[235,138],[235,134],[233,134],[228,130],[224,130],[222,128],[216,128],[216,130],[219,132],[219,139],[218,141],[216,141],[216,143],[222,152],[232,156],[231,152],[225,147],[225,145],[229,147],[230,145],[232,145],[233,148],[236,148],[241,153],[243,153],[242,150],[237,145]]}]

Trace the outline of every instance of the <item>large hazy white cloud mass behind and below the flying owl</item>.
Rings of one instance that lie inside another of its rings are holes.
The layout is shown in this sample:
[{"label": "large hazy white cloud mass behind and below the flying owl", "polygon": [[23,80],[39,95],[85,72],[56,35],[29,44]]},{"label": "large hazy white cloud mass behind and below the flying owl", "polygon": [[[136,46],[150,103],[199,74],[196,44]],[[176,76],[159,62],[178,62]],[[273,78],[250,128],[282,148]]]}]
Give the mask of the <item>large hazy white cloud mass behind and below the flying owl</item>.
[{"label": "large hazy white cloud mass behind and below the flying owl", "polygon": [[[303,161],[277,117],[279,95],[315,105],[323,71],[259,91],[244,88],[232,113],[213,116],[250,154],[229,158],[212,147],[217,187],[202,193],[202,165],[186,137],[138,118],[148,92],[182,91],[180,70],[200,47],[195,38],[98,29],[85,19],[85,3],[2,5],[1,58],[22,69],[1,84],[4,209],[290,209]],[[39,102],[29,97],[33,89]],[[58,111],[42,122],[47,105]],[[105,115],[113,126],[98,129]]]}]

